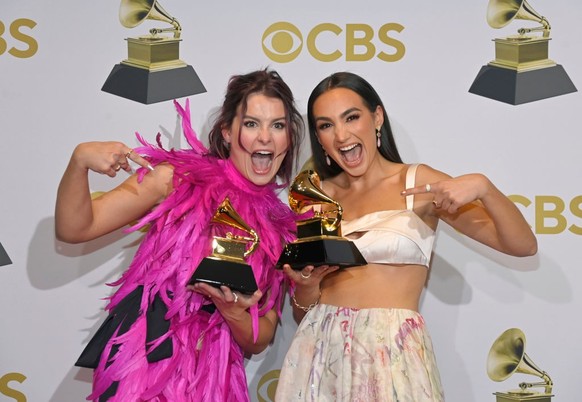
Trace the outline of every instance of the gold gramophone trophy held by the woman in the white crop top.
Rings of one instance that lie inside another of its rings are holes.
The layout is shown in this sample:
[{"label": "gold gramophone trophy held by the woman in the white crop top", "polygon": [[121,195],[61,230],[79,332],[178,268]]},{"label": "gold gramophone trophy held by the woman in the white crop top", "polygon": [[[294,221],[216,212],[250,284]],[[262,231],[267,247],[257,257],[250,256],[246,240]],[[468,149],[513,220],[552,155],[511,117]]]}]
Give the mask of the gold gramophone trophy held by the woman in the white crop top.
[{"label": "gold gramophone trophy held by the woman in the white crop top", "polygon": [[289,205],[296,213],[306,213],[316,205],[322,210],[312,209],[311,218],[297,222],[297,240],[285,246],[277,268],[283,264],[296,270],[306,265],[347,268],[367,264],[356,245],[342,237],[343,209],[320,188],[319,175],[314,170],[297,175],[289,189]]}]

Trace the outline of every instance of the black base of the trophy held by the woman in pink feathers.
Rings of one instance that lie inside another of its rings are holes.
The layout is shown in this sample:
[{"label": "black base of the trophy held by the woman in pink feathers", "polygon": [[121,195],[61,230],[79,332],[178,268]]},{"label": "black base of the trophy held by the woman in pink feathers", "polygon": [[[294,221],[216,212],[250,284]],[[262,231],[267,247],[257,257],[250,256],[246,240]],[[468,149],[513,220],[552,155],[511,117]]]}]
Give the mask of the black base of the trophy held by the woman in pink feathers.
[{"label": "black base of the trophy held by the woman in pink feathers", "polygon": [[214,287],[227,286],[230,290],[251,295],[257,289],[250,265],[207,257],[202,260],[188,285],[204,282]]}]

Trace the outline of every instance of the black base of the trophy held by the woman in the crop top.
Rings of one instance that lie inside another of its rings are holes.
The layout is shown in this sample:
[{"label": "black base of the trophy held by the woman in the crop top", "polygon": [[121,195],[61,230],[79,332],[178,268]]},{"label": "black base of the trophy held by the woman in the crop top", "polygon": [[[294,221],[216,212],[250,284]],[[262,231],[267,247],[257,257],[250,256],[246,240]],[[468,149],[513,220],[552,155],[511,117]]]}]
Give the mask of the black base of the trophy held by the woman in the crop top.
[{"label": "black base of the trophy held by the woman in the crop top", "polygon": [[306,265],[339,265],[349,268],[366,265],[367,262],[356,245],[347,239],[321,238],[311,241],[299,241],[285,246],[277,268],[289,264],[295,270]]}]

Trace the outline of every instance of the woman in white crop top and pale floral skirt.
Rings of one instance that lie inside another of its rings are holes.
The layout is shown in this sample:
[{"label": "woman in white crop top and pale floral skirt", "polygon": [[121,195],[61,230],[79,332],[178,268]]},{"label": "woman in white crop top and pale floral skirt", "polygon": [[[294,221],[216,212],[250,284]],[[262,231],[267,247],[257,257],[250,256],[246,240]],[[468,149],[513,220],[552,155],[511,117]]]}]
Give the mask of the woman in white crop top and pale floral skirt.
[{"label": "woman in white crop top and pale floral skirt", "polygon": [[404,164],[382,101],[358,75],[325,78],[307,113],[323,190],[342,205],[343,235],[368,265],[284,267],[301,322],[276,401],[443,401],[418,312],[438,222],[514,256],[535,254],[536,238],[484,175]]}]

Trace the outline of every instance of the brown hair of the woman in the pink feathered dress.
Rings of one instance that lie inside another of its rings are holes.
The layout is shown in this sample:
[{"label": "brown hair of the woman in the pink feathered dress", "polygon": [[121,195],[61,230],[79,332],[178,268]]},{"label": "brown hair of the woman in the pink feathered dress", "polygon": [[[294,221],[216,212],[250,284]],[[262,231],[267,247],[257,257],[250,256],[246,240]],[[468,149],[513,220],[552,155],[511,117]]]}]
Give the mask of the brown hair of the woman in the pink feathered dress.
[{"label": "brown hair of the woman in the pink feathered dress", "polygon": [[241,105],[242,114],[246,113],[249,96],[257,93],[269,98],[280,99],[283,102],[285,125],[289,135],[289,151],[277,171],[277,176],[285,183],[289,183],[294,169],[293,164],[297,163],[299,144],[303,140],[304,125],[303,118],[295,106],[291,89],[276,71],[257,70],[244,75],[234,75],[230,78],[224,102],[208,134],[210,155],[222,159],[229,157],[230,149],[223,141],[222,129],[232,125],[239,105]]}]

